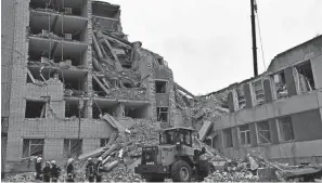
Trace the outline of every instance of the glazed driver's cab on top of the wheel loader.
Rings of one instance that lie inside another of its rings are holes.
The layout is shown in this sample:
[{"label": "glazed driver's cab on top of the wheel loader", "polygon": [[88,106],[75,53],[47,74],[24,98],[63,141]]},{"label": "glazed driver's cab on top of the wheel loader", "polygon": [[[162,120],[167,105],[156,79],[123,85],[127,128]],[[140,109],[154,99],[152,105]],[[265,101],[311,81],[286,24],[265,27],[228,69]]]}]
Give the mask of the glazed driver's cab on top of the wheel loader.
[{"label": "glazed driver's cab on top of the wheel loader", "polygon": [[194,129],[190,128],[169,128],[159,134],[159,145],[186,145],[192,147],[192,135]]}]

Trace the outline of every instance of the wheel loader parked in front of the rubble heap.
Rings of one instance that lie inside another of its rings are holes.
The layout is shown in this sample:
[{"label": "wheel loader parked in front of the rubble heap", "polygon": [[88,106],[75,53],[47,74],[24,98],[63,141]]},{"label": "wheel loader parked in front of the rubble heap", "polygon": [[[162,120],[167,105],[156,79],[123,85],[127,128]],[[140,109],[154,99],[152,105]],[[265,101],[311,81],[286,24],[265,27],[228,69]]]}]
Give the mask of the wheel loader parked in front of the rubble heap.
[{"label": "wheel loader parked in front of the rubble heap", "polygon": [[214,169],[207,160],[201,159],[205,147],[193,148],[193,135],[196,131],[192,128],[163,129],[158,146],[142,147],[141,164],[134,172],[147,182],[203,180]]}]

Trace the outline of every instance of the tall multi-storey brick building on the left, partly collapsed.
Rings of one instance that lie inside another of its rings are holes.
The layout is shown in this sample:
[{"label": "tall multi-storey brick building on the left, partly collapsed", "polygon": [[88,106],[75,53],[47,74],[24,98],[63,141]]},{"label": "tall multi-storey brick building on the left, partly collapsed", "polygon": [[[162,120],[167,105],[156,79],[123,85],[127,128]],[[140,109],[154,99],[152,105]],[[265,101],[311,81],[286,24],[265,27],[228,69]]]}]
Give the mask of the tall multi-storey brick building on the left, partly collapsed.
[{"label": "tall multi-storey brick building on the left, partly collapsed", "polygon": [[[162,56],[129,42],[120,6],[92,0],[2,0],[1,158],[62,164],[106,145],[110,114],[173,126],[175,82]],[[182,90],[182,89],[181,89]]]}]

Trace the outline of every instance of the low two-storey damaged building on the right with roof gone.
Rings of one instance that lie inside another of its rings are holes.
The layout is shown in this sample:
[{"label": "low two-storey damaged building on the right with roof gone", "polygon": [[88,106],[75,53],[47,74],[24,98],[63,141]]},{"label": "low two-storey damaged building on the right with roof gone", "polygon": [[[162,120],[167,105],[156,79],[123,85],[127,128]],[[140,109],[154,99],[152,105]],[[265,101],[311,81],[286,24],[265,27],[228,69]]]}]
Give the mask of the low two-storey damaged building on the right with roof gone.
[{"label": "low two-storey damaged building on the right with roof gone", "polygon": [[318,36],[278,54],[260,76],[199,96],[218,107],[210,110],[215,118],[195,122],[201,139],[227,157],[244,158],[255,151],[289,165],[321,164],[321,54]]}]

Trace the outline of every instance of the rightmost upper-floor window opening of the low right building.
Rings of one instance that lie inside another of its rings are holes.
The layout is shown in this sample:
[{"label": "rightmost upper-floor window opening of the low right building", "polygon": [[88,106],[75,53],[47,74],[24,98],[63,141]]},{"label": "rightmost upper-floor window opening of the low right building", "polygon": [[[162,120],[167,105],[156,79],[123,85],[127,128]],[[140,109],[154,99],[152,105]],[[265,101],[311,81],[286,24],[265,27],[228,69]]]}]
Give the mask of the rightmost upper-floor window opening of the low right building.
[{"label": "rightmost upper-floor window opening of the low right building", "polygon": [[311,62],[307,61],[304,64],[296,66],[299,76],[299,88],[301,92],[308,92],[315,89],[314,78],[311,67]]}]

